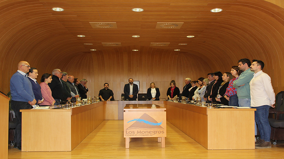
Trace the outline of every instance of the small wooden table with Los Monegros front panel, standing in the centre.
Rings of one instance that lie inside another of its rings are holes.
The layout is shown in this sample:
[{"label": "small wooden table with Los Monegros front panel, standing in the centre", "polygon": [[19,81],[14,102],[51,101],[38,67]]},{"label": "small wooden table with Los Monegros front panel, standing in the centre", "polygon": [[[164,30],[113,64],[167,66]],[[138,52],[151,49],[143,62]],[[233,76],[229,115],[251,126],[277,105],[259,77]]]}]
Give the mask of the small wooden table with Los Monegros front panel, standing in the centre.
[{"label": "small wooden table with Los Monegros front panel, standing in the centre", "polygon": [[123,110],[125,148],[129,148],[130,138],[153,137],[165,148],[165,108],[155,104],[126,104]]}]

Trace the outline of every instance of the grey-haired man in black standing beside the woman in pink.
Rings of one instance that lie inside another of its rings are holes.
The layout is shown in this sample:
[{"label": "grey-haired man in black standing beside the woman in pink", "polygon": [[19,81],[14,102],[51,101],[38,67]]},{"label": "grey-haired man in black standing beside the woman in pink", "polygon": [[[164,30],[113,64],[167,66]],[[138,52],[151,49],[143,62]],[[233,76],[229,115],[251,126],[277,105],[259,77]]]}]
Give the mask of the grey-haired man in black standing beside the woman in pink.
[{"label": "grey-haired man in black standing beside the woman in pink", "polygon": [[52,97],[56,101],[54,105],[59,105],[63,98],[63,85],[61,82],[62,72],[60,69],[54,69],[52,71],[52,81],[48,84],[52,92]]}]

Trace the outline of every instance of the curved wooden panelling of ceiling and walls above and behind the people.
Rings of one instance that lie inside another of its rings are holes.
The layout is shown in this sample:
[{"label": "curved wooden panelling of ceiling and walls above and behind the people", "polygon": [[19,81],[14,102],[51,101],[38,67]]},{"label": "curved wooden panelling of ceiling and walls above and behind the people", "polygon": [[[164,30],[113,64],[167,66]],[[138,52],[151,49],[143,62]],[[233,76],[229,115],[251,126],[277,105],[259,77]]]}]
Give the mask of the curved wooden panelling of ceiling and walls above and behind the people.
[{"label": "curved wooden panelling of ceiling and walls above and behind the people", "polygon": [[[145,11],[132,12],[137,4]],[[54,5],[65,11],[52,11]],[[36,67],[39,78],[54,68],[86,78],[91,97],[98,96],[108,82],[120,99],[130,77],[140,81],[140,93],[146,93],[154,81],[165,97],[173,79],[182,88],[184,78],[196,80],[209,72],[229,72],[237,60],[249,58],[265,63],[264,72],[271,76],[277,93],[284,89],[283,7],[284,0],[1,1],[0,91],[9,91],[9,80],[21,60]],[[211,13],[212,8],[223,11]],[[117,22],[118,29],[93,29],[89,22],[95,21]],[[180,29],[155,29],[157,22],[184,24]],[[77,37],[79,34],[86,37]],[[132,38],[135,34],[141,37]],[[122,47],[101,44],[109,42]],[[152,42],[170,45],[149,47]]]}]

